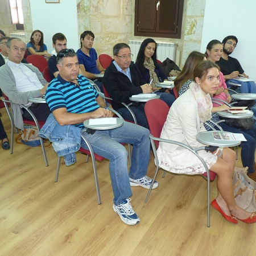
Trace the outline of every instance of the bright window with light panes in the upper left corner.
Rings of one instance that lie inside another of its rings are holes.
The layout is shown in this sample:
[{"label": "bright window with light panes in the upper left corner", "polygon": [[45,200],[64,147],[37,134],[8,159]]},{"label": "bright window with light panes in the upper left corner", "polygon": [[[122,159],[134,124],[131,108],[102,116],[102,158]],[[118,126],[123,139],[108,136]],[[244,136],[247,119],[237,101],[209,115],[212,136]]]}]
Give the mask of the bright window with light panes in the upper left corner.
[{"label": "bright window with light panes in the upper left corner", "polygon": [[18,30],[23,30],[22,0],[9,0],[11,24],[16,24]]}]

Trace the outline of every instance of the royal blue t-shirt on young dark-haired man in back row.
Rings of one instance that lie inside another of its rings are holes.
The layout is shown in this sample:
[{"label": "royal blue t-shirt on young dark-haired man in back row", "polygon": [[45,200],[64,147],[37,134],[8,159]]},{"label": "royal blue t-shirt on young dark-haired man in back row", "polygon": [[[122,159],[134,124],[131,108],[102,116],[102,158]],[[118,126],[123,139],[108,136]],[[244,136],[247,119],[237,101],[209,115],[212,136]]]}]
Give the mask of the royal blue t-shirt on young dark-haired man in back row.
[{"label": "royal blue t-shirt on young dark-haired man in back row", "polygon": [[98,59],[97,52],[94,48],[90,48],[89,55],[84,54],[81,49],[77,50],[77,59],[79,64],[84,65],[85,70],[92,74],[100,74],[100,71],[97,68],[96,60]]}]

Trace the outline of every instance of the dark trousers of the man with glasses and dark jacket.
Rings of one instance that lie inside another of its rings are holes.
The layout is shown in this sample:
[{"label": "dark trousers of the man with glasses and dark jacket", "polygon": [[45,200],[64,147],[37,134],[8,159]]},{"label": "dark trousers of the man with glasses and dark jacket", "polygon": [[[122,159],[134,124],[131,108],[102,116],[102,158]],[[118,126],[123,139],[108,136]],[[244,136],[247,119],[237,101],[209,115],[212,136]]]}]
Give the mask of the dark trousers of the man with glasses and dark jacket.
[{"label": "dark trousers of the man with glasses and dark jacket", "polygon": [[[144,112],[144,105],[145,105],[144,103],[141,103],[138,106],[130,106],[130,109],[133,110],[133,113],[137,119],[138,125],[141,125],[149,129],[146,114]],[[128,109],[121,108],[121,109],[118,109],[117,112],[121,114],[124,119],[127,119],[129,121],[134,121],[133,116],[131,115]]]}]

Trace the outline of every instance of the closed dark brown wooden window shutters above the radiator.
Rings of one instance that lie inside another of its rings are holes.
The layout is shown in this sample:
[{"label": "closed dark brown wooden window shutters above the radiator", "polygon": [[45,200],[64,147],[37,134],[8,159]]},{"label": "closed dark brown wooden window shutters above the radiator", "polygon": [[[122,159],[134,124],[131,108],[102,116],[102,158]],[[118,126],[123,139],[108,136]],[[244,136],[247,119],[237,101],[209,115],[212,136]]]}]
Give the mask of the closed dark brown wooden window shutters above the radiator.
[{"label": "closed dark brown wooden window shutters above the radiator", "polygon": [[135,0],[135,36],[180,38],[184,0]]}]

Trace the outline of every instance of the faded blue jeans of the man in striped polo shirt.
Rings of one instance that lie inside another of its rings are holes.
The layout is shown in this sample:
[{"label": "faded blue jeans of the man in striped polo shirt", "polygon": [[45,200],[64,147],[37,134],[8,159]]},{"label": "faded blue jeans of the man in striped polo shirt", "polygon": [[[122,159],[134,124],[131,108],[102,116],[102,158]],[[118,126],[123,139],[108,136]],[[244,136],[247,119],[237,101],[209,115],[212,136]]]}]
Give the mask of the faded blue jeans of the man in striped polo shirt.
[{"label": "faded blue jeans of the man in striped polo shirt", "polygon": [[[83,133],[93,151],[109,159],[109,171],[114,193],[114,204],[121,204],[132,195],[129,177],[140,179],[147,174],[150,160],[150,132],[142,126],[123,122],[123,126],[112,130],[97,130],[94,134]],[[130,172],[127,171],[126,148],[120,143],[133,144]],[[81,147],[88,147],[81,141]]]}]

